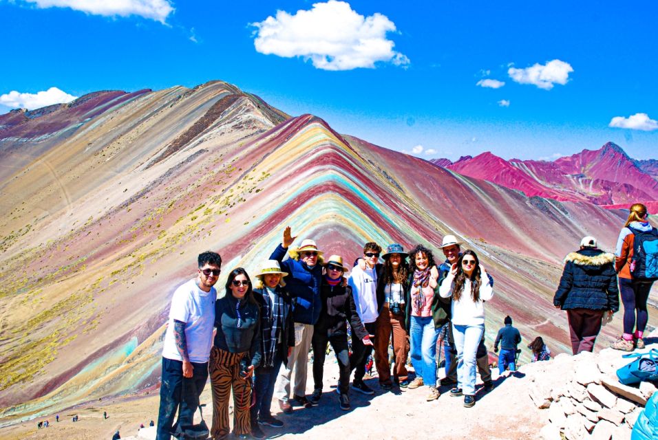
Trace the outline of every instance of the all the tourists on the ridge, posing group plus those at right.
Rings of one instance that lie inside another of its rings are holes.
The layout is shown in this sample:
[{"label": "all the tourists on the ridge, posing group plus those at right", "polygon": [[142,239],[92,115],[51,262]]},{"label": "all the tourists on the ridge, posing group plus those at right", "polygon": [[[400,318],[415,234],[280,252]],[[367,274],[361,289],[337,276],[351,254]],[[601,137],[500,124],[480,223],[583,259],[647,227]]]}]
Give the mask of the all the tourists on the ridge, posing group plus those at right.
[{"label": "all the tourists on the ridge, posing group plus those at right", "polygon": [[[636,206],[631,207],[624,228],[630,232],[622,230],[617,271],[635,261],[633,236],[651,231],[650,226],[646,227],[646,208],[642,214],[634,210]],[[374,394],[363,380],[373,351],[383,390],[426,386],[426,400],[438,399],[441,382],[437,378],[436,347],[440,335],[444,342],[445,382],[454,384],[451,396],[463,396],[467,408],[476,404],[476,366],[485,390],[493,387],[484,326],[485,303],[494,296],[494,279],[480,264],[476,252],[462,250],[463,243],[455,236],[443,237],[445,261],[439,264],[432,250],[423,245],[405,252],[402,245],[392,243],[383,252],[379,244],[370,242],[363,246],[359,259],[347,265],[340,255],[325,256],[310,239],[301,241],[297,248],[291,247],[295,238],[287,227],[282,243],[252,276],[242,267],[233,269],[224,286],[226,292],[219,299],[214,285],[222,259],[215,252],[198,256],[196,278],[178,287],[171,301],[162,353],[158,440],[170,439],[173,432],[193,426],[193,414],[199,408],[199,396],[209,375],[213,398],[211,437],[224,439],[231,431],[232,392],[235,436],[265,438],[262,426],[284,426],[271,412],[275,396],[284,413],[293,412],[293,405],[308,408],[320,404],[328,344],[339,366],[336,392],[342,410],[350,409],[350,389]],[[591,351],[604,313],[614,313],[619,307],[615,259],[598,250],[593,237],[585,237],[580,250],[569,254],[565,261],[553,303],[567,311],[573,352]],[[641,347],[650,283],[639,283],[634,273],[630,268],[626,294],[622,287],[624,305],[634,309],[633,322],[629,314],[628,329],[624,314],[621,340],[630,347]],[[635,310],[637,331],[633,332]],[[516,369],[521,337],[511,324],[507,316],[494,344],[498,351],[500,343],[501,373],[508,367]],[[626,349],[622,342],[616,344],[615,348]],[[311,347],[314,386],[307,396]],[[550,358],[541,337],[535,338],[529,348],[533,362]],[[411,358],[414,376],[406,369],[407,357]]]}]

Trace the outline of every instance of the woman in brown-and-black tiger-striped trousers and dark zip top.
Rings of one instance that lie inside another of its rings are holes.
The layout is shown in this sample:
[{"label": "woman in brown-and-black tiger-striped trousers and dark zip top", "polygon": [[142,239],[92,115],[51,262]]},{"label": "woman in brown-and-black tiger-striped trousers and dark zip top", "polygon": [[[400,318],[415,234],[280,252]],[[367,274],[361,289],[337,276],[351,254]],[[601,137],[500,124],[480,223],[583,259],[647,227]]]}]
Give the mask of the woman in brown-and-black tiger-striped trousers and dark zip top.
[{"label": "woman in brown-and-black tiger-striped trousers and dark zip top", "polygon": [[262,360],[260,307],[242,267],[226,279],[226,293],[215,306],[217,333],[210,352],[213,388],[213,439],[229,436],[229,399],[233,390],[233,434],[251,438],[251,383]]}]

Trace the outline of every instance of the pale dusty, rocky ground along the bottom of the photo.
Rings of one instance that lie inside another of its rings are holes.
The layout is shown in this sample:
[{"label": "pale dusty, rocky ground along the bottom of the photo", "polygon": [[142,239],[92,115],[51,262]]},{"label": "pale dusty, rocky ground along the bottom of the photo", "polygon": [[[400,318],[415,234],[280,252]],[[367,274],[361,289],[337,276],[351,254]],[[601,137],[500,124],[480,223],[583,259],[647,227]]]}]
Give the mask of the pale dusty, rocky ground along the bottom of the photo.
[{"label": "pale dusty, rocky ground along the bottom of the photo", "polygon": [[[649,339],[648,342],[658,342]],[[658,348],[648,345],[646,350]],[[630,438],[630,428],[655,387],[624,388],[616,384],[614,372],[629,362],[622,352],[604,349],[597,354],[558,355],[549,362],[527,364],[516,373],[498,376],[496,387],[485,393],[478,381],[477,404],[465,408],[463,399],[450,397],[442,387],[438,400],[427,402],[427,387],[401,392],[385,392],[376,377],[368,380],[375,388],[373,396],[352,392],[352,410],[341,411],[335,391],[337,364],[328,356],[325,394],[319,406],[296,407],[293,415],[275,415],[286,426],[268,428],[270,437],[281,439],[408,439],[441,437],[443,439],[613,439]],[[308,380],[308,393],[312,379]],[[210,424],[209,386],[202,394],[207,404],[206,421]],[[543,407],[543,408],[541,408]],[[103,411],[108,419],[103,420]],[[0,430],[3,439],[111,439],[120,430],[123,439],[154,439],[151,419],[157,419],[158,395],[131,396],[101,400],[46,417],[49,428],[37,430],[38,420],[26,421]],[[78,422],[71,421],[78,415]],[[147,428],[139,430],[140,423]],[[141,432],[140,432],[141,431]]]}]

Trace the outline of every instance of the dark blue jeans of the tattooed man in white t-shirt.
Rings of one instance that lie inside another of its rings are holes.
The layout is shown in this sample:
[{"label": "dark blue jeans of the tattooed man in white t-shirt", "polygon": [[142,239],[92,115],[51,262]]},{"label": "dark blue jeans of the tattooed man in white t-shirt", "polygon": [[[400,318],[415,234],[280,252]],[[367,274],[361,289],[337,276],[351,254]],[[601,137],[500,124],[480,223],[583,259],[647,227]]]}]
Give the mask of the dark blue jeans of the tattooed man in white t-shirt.
[{"label": "dark blue jeans of the tattooed man in white t-shirt", "polygon": [[162,358],[162,385],[156,440],[171,439],[173,417],[176,416],[179,406],[180,426],[191,426],[194,423],[194,412],[199,407],[199,396],[208,380],[208,362],[204,364],[192,362],[192,366],[192,377],[183,377],[182,361]]}]

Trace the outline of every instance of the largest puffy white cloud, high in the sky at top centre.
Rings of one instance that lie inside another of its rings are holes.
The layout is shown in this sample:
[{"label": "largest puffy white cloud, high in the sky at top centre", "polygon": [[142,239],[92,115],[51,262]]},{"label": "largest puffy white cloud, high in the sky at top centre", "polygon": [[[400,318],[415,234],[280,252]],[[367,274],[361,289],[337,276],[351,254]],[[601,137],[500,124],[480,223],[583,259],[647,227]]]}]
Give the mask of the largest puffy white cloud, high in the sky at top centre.
[{"label": "largest puffy white cloud, high in the sky at top centre", "polygon": [[374,68],[378,61],[403,67],[410,63],[407,56],[393,50],[395,43],[386,39],[388,32],[396,30],[388,17],[379,12],[363,17],[344,1],[315,3],[310,10],[295,14],[278,10],[276,17],[251,25],[257,28],[257,52],[301,56],[317,69]]}]

